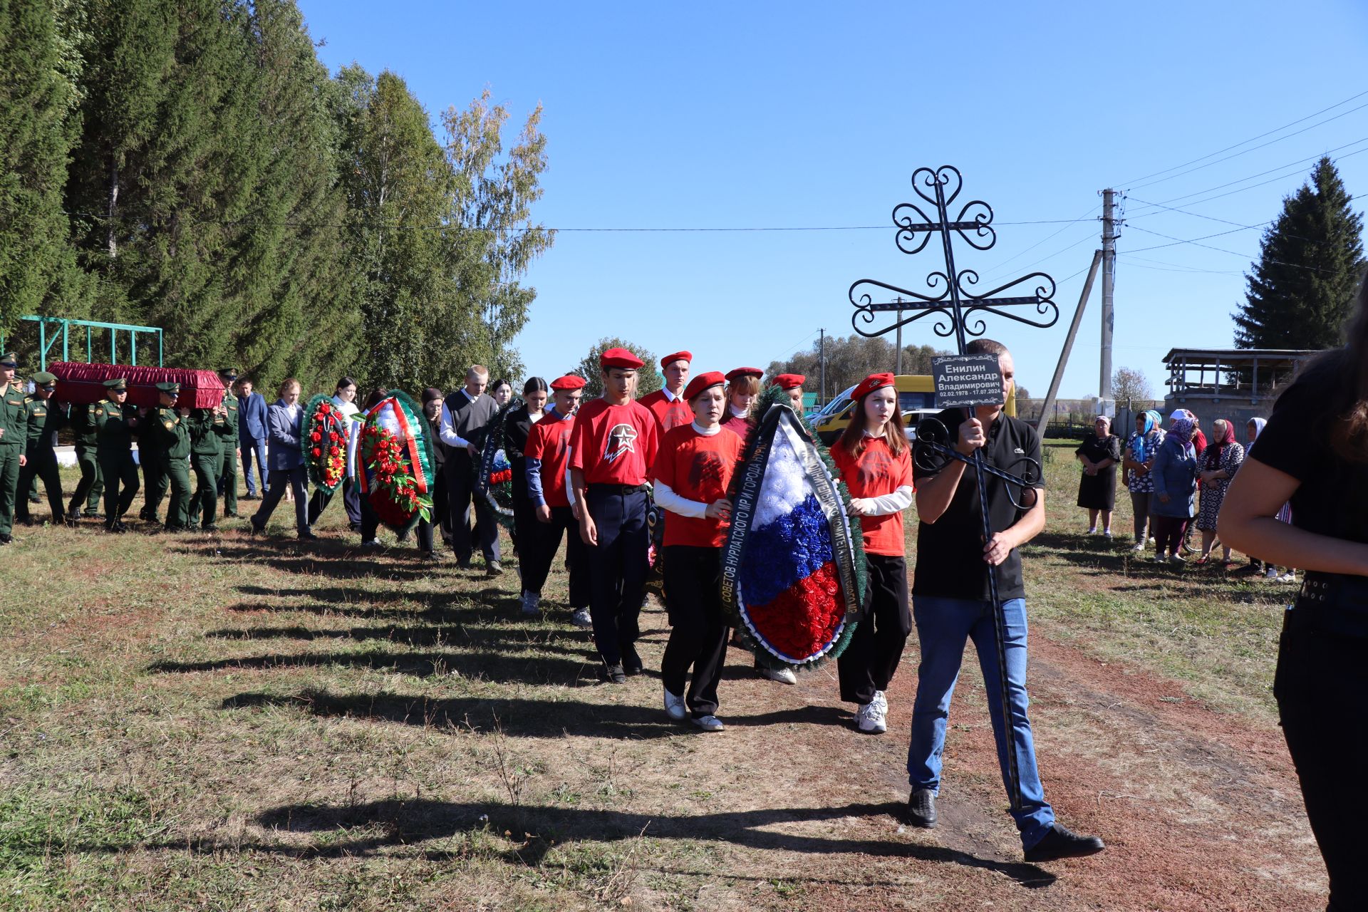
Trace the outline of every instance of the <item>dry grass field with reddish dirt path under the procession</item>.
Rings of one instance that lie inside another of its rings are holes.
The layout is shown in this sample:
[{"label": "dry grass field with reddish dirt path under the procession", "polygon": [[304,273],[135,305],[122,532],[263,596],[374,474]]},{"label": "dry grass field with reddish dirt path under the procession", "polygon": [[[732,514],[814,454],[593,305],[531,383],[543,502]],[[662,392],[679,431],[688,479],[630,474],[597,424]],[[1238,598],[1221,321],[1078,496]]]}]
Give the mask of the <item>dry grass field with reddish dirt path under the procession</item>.
[{"label": "dry grass field with reddish dirt path under the procession", "polygon": [[[21,526],[0,551],[0,908],[1312,908],[1270,693],[1290,587],[1133,561],[1124,496],[1116,543],[1082,535],[1049,454],[1031,712],[1103,856],[1021,864],[971,655],[944,823],[908,831],[915,634],[886,736],[851,729],[834,669],[788,688],[736,649],[702,734],[654,673],[599,682],[560,569],[523,621],[516,559],[361,551],[341,503],[301,544],[282,505],[279,537]],[[666,637],[653,606],[648,669]]]}]

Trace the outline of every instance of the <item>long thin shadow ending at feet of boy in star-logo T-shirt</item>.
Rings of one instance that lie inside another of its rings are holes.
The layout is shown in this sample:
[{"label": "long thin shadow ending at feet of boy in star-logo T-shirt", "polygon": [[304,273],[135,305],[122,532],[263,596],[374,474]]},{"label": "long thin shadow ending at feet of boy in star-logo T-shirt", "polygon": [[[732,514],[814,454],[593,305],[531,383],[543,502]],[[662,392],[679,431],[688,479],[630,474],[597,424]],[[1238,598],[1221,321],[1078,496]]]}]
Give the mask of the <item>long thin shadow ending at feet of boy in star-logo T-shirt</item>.
[{"label": "long thin shadow ending at feet of boy in star-logo T-shirt", "polygon": [[250,655],[235,659],[207,659],[202,662],[153,662],[148,671],[176,674],[187,671],[271,670],[301,667],[350,667],[393,671],[413,677],[460,674],[465,678],[569,685],[577,682],[586,670],[595,670],[596,660],[573,660],[550,656],[512,658],[488,654],[461,652],[313,652]]}]

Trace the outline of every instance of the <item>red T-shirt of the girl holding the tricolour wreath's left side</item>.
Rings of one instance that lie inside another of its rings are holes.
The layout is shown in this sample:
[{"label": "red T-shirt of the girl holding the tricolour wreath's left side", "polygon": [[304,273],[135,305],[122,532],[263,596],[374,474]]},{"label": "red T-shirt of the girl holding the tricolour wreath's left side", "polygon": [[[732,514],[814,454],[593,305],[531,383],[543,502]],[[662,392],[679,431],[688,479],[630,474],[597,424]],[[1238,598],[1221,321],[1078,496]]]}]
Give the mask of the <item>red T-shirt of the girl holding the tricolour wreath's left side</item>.
[{"label": "red T-shirt of the girl holding the tricolour wreath's left side", "polygon": [[[726,496],[726,485],[744,447],[746,443],[726,428],[711,435],[699,433],[689,421],[665,432],[651,477],[687,500],[711,503]],[[721,520],[670,514],[665,521],[665,547],[720,548],[725,540],[726,525]]]}]

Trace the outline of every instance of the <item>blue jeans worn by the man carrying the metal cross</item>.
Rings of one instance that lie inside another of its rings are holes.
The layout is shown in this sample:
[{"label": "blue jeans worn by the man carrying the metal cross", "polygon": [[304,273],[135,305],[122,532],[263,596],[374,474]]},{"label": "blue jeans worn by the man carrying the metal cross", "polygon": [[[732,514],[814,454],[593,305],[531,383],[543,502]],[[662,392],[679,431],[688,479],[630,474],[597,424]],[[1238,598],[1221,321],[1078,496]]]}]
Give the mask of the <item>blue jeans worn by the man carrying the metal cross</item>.
[{"label": "blue jeans worn by the man carrying the metal cross", "polygon": [[[1012,811],[1022,845],[1031,848],[1049,831],[1055,811],[1036,768],[1026,707],[1026,599],[1003,603],[1007,623],[1007,685],[1011,701],[1012,749],[1021,785],[1021,809]],[[945,722],[949,699],[964,659],[964,641],[973,640],[978,666],[988,689],[988,712],[997,741],[997,763],[1003,783],[1007,778],[1007,725],[1003,719],[1003,685],[997,674],[997,640],[993,634],[990,602],[912,596],[912,619],[921,640],[922,663],[917,670],[917,703],[912,706],[912,740],[907,748],[907,779],[912,789],[940,792],[941,755],[945,751]],[[1008,790],[1011,786],[1008,785]]]}]

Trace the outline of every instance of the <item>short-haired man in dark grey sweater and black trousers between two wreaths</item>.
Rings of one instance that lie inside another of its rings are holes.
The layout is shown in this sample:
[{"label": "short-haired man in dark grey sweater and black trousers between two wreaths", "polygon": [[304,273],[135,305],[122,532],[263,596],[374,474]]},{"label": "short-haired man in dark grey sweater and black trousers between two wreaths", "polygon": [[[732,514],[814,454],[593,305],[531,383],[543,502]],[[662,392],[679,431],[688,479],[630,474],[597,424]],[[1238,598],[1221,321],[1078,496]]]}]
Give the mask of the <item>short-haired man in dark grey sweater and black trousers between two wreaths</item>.
[{"label": "short-haired man in dark grey sweater and black trousers between two wreaths", "polygon": [[499,524],[484,498],[475,496],[475,465],[484,446],[484,428],[499,406],[484,394],[490,383],[490,369],[471,365],[465,372],[465,387],[442,403],[439,436],[450,447],[446,458],[446,491],[451,510],[451,548],[462,569],[471,566],[475,543],[471,536],[471,506],[475,506],[475,525],[479,531],[484,570],[490,576],[503,573],[499,563]]}]

